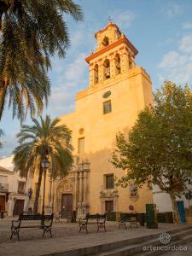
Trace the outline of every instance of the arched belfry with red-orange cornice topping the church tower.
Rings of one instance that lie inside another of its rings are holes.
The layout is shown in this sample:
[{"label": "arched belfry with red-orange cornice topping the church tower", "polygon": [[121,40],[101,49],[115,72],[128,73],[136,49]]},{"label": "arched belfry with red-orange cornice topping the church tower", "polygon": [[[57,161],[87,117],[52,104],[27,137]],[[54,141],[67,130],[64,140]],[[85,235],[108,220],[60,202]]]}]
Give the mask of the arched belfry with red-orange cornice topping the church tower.
[{"label": "arched belfry with red-orange cornice topping the church tower", "polygon": [[108,84],[120,74],[134,68],[137,49],[112,21],[96,32],[96,51],[85,61],[90,66],[90,88]]}]

